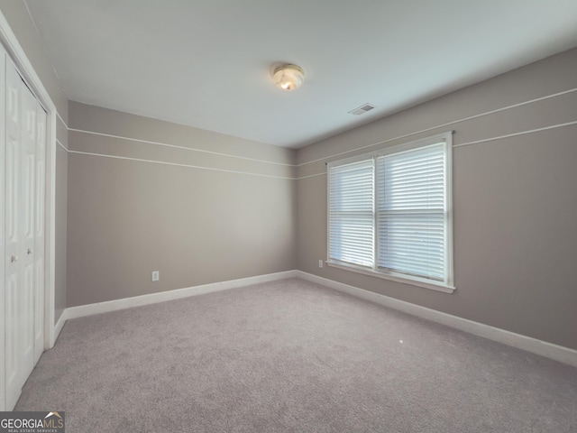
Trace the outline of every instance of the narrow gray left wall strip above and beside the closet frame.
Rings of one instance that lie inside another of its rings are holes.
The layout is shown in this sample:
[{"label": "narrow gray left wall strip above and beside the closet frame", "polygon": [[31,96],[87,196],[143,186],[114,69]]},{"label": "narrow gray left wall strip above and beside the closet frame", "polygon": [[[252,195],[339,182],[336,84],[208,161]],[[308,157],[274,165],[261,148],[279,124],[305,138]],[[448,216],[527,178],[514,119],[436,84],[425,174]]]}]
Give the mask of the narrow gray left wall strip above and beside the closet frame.
[{"label": "narrow gray left wall strip above and beside the closet frame", "polygon": [[[68,119],[68,99],[60,88],[60,81],[48,60],[41,40],[32,23],[24,2],[0,0],[0,10],[20,42],[26,57],[32,63],[32,68],[41,79],[42,85],[50,94],[50,99],[56,106],[58,114],[64,122]],[[59,118],[57,120],[57,139],[66,146],[68,130]],[[55,239],[55,321],[58,321],[65,309],[66,299],[66,216],[67,216],[67,164],[66,151],[57,145],[56,159],[56,239]],[[47,174],[50,175],[50,167]]]}]

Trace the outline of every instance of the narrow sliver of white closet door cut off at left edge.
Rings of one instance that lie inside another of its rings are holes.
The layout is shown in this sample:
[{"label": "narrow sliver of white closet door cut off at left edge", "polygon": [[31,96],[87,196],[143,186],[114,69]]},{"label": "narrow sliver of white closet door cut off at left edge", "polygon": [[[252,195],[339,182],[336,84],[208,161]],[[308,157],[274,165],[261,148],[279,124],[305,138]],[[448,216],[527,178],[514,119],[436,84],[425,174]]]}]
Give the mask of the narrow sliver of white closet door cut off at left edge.
[{"label": "narrow sliver of white closet door cut off at left edge", "polygon": [[[0,221],[5,221],[5,101],[6,101],[6,53],[0,46]],[[6,410],[5,387],[5,242],[4,226],[0,225],[0,410]]]}]

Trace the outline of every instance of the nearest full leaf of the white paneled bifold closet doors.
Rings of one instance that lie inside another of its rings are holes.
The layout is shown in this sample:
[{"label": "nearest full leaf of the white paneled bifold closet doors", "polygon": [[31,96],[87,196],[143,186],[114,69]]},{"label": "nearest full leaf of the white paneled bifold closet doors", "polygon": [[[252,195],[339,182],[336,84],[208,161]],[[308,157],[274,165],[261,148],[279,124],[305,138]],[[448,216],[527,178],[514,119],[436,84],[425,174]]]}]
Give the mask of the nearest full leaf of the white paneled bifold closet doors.
[{"label": "nearest full leaf of the white paneled bifold closet doors", "polygon": [[6,149],[5,149],[5,387],[6,409],[11,410],[22,388],[23,336],[22,261],[20,230],[20,124],[22,80],[6,61]]}]

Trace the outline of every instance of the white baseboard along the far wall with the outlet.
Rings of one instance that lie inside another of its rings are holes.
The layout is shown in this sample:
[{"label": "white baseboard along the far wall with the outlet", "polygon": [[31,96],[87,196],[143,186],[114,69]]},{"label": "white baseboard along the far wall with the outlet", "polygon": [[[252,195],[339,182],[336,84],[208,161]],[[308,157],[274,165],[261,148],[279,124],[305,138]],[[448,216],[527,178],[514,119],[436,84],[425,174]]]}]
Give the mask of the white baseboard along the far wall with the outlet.
[{"label": "white baseboard along the far wall with the outlet", "polygon": [[[256,277],[242,278],[239,280],[221,281],[195,287],[187,287],[185,289],[160,291],[159,293],[134,296],[133,298],[108,300],[105,302],[97,302],[96,304],[69,307],[68,309],[64,310],[62,317],[64,317],[64,320],[69,318],[82,318],[85,316],[91,316],[93,314],[107,313],[110,311],[117,311],[119,309],[132,309],[133,307],[141,307],[142,305],[156,304],[158,302],[188,298],[190,296],[204,295],[206,293],[212,293],[215,291],[236,289],[252,284],[259,284],[261,282],[284,280],[286,278],[292,278],[296,276],[297,271],[269,273],[266,275],[258,275]],[[60,319],[62,319],[62,317]],[[64,324],[62,323],[62,326],[63,325]]]}]

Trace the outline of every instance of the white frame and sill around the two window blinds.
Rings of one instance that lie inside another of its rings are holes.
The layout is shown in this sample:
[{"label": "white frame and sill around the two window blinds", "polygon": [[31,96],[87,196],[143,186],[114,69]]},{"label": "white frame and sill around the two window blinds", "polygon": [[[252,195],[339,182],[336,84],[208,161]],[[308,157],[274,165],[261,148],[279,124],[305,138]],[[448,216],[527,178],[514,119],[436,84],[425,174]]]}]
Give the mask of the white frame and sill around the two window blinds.
[{"label": "white frame and sill around the two window blinds", "polygon": [[[377,158],[394,153],[412,151],[418,148],[423,148],[433,144],[444,143],[445,155],[445,191],[444,191],[444,207],[445,207],[445,237],[444,237],[444,260],[446,266],[446,275],[444,281],[435,281],[432,279],[410,275],[401,272],[385,271],[378,267],[378,245],[379,232],[377,227]],[[338,260],[331,259],[330,253],[330,226],[331,226],[331,174],[330,171],[334,167],[351,164],[359,161],[366,161],[373,159],[375,161],[375,193],[374,193],[374,260],[372,267],[359,266],[352,263],[343,263]],[[382,278],[390,281],[397,281],[406,284],[411,284],[426,289],[443,291],[445,293],[453,293],[455,290],[453,283],[453,131],[443,134],[435,134],[426,138],[414,140],[407,143],[400,143],[397,145],[380,148],[373,152],[366,152],[355,155],[350,158],[342,160],[330,161],[326,164],[326,261],[328,266],[343,269],[350,272],[362,273],[373,277]]]}]

